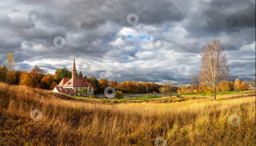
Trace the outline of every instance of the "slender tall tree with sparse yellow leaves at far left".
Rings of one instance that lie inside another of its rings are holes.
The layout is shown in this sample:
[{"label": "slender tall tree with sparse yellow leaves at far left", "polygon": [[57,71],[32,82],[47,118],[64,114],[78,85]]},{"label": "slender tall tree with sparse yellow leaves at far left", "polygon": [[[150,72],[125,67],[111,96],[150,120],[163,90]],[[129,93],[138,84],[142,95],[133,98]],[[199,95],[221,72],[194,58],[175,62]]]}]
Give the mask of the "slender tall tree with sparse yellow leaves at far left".
[{"label": "slender tall tree with sparse yellow leaves at far left", "polygon": [[[7,71],[7,78],[8,78],[8,84],[9,84],[9,89],[10,89],[10,82],[12,80],[11,77],[15,76],[15,60],[12,55],[12,51],[9,50],[9,53],[6,56],[6,71]],[[7,82],[6,82],[6,88],[7,88]]]}]

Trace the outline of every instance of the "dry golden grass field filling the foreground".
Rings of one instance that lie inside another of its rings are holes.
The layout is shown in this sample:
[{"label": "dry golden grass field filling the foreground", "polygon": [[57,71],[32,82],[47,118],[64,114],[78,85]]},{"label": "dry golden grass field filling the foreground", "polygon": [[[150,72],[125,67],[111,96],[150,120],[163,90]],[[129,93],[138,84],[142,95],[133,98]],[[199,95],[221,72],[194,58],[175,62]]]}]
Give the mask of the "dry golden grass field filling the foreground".
[{"label": "dry golden grass field filling the foreground", "polygon": [[[0,145],[154,146],[158,137],[168,146],[255,145],[255,93],[216,98],[97,101],[22,86],[7,94],[0,83]],[[238,126],[229,124],[232,114]]]}]

